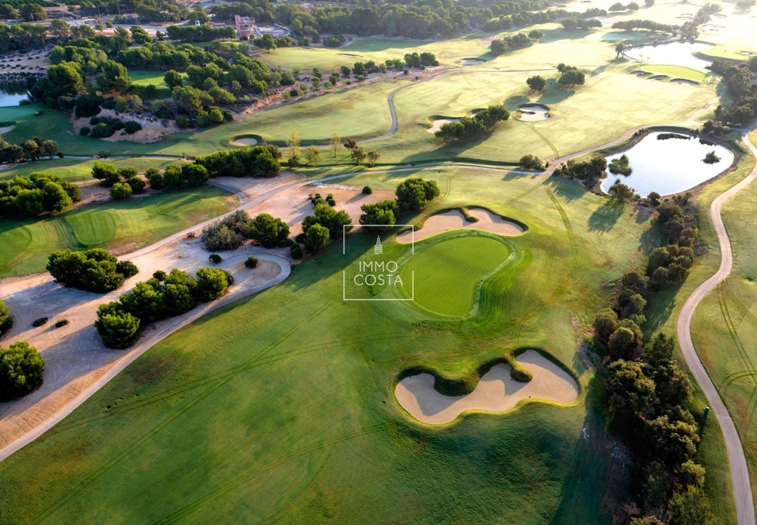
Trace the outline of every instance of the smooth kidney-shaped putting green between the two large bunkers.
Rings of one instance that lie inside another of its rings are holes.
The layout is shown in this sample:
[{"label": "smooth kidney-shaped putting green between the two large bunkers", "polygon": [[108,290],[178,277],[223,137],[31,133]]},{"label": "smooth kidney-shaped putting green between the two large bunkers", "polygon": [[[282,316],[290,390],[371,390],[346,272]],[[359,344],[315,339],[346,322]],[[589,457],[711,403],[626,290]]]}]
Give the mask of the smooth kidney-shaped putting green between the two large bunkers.
[{"label": "smooth kidney-shaped putting green between the two large bunkers", "polygon": [[466,315],[475,305],[478,283],[491,275],[510,250],[494,237],[480,232],[455,233],[441,241],[419,243],[416,254],[400,271],[403,287],[422,308],[441,315]]}]

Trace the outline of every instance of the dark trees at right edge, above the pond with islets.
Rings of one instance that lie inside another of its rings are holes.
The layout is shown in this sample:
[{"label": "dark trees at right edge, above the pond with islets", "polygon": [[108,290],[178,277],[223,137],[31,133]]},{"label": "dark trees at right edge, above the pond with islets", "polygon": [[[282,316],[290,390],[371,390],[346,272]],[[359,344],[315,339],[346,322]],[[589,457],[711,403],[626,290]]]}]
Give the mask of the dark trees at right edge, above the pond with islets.
[{"label": "dark trees at right edge, above the pond with islets", "polygon": [[[751,57],[749,62],[731,65],[731,62],[715,60],[709,69],[719,73],[725,79],[728,93],[734,98],[729,106],[718,104],[715,108],[715,122],[746,125],[757,116],[757,85],[752,85],[752,73],[757,73],[757,57]],[[716,131],[716,126],[707,127],[706,131]]]}]

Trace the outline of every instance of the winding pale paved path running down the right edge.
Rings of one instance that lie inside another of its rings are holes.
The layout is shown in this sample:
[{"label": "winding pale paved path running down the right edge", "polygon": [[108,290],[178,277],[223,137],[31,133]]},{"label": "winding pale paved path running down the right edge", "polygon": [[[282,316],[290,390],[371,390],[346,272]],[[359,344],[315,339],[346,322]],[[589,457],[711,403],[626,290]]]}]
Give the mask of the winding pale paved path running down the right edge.
[{"label": "winding pale paved path running down the right edge", "polygon": [[[743,133],[744,144],[752,151],[752,154],[757,157],[757,148],[749,141],[749,131],[754,129],[755,126],[751,126],[746,132]],[[694,349],[694,343],[691,340],[691,319],[693,318],[696,307],[705,298],[710,291],[714,290],[728,274],[731,273],[731,269],[734,266],[734,253],[731,250],[731,241],[728,238],[728,233],[725,230],[723,224],[723,218],[721,216],[721,207],[723,203],[730,197],[737,194],[753,180],[757,178],[757,166],[752,169],[741,182],[732,188],[724,191],[724,193],[718,195],[715,200],[712,201],[710,206],[710,218],[715,225],[715,233],[718,234],[718,240],[720,241],[721,261],[720,268],[712,275],[707,281],[699,284],[684,303],[684,307],[681,309],[681,313],[678,315],[678,323],[676,329],[678,331],[678,341],[681,343],[681,351],[684,353],[684,358],[691,369],[691,372],[702,387],[702,391],[707,396],[712,412],[715,412],[715,416],[718,418],[718,423],[723,430],[723,437],[725,440],[725,448],[728,452],[728,460],[731,464],[731,480],[734,484],[734,498],[736,499],[736,516],[738,525],[755,525],[755,507],[752,501],[752,485],[749,482],[749,468],[746,464],[746,455],[744,455],[744,449],[739,437],[739,433],[736,430],[734,420],[731,419],[731,414],[725,408],[723,400],[718,394],[718,389],[712,380],[707,375],[702,362],[699,360],[699,356]]]}]

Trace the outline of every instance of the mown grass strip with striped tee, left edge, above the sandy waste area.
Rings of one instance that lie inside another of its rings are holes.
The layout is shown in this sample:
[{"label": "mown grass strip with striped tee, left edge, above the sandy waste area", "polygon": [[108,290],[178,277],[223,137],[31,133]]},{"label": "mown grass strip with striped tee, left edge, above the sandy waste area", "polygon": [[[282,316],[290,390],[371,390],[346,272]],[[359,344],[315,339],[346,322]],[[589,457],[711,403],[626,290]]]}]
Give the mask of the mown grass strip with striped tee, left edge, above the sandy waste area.
[{"label": "mown grass strip with striped tee, left edge, above the sandy waste area", "polygon": [[206,186],[33,219],[0,219],[0,278],[42,272],[53,250],[136,250],[237,205],[227,191]]}]

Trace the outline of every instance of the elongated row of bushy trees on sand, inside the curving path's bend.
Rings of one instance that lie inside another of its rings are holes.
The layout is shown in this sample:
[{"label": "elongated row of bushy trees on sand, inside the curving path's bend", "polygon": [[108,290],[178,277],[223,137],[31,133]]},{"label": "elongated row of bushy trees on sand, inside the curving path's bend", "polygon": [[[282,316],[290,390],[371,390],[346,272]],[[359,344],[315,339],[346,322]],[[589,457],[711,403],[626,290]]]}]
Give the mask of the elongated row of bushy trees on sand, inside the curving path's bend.
[{"label": "elongated row of bushy trees on sand, inside the curving path's bend", "polygon": [[155,272],[119,300],[98,307],[95,328],[108,348],[128,348],[139,340],[145,325],[181,315],[221,297],[234,284],[229,272],[204,266],[197,275],[172,269]]}]

